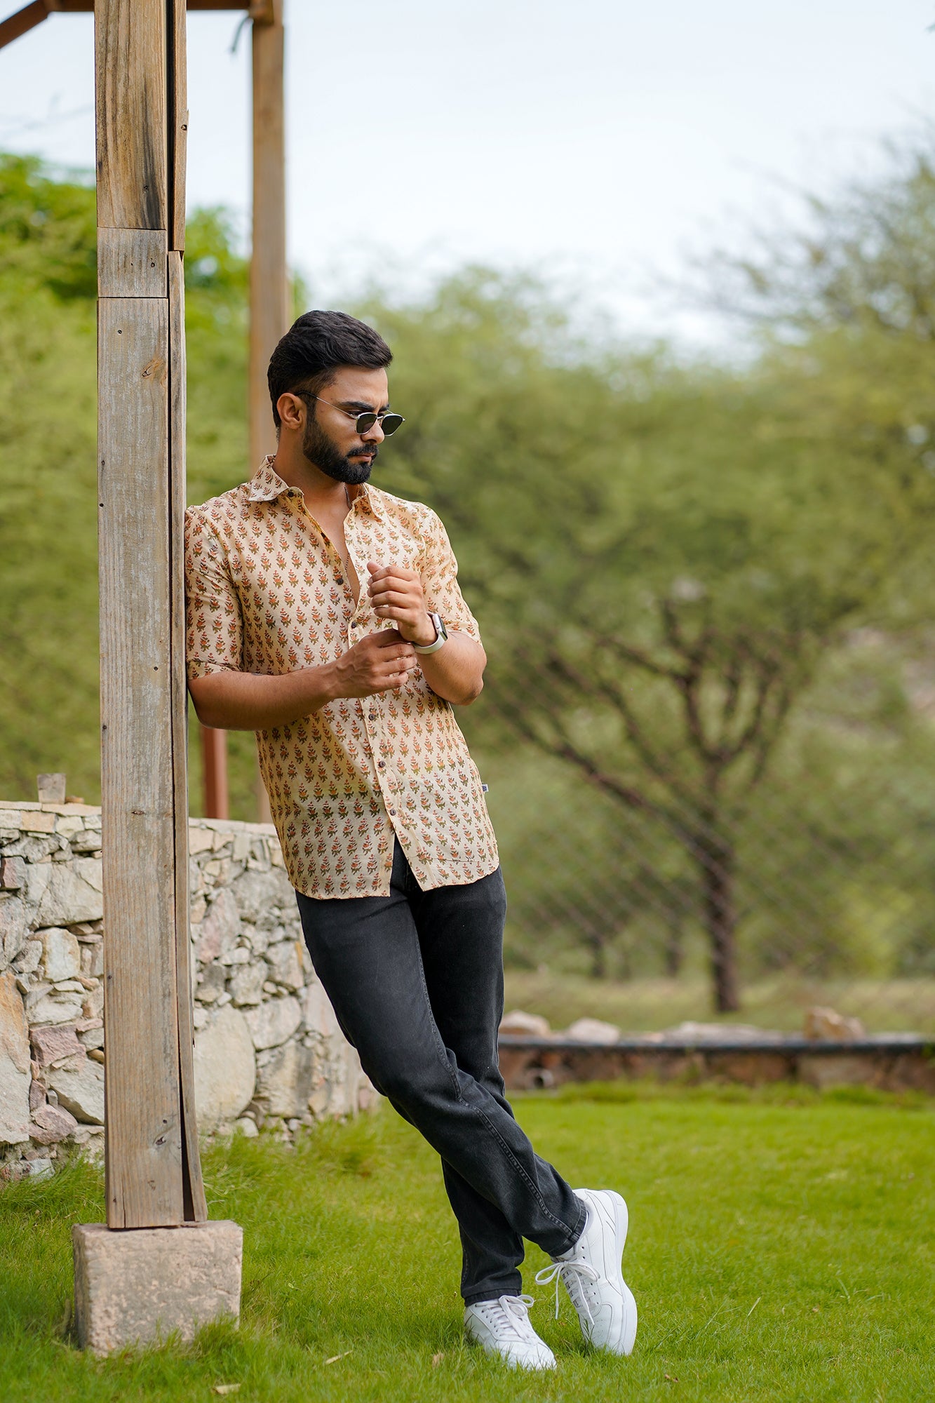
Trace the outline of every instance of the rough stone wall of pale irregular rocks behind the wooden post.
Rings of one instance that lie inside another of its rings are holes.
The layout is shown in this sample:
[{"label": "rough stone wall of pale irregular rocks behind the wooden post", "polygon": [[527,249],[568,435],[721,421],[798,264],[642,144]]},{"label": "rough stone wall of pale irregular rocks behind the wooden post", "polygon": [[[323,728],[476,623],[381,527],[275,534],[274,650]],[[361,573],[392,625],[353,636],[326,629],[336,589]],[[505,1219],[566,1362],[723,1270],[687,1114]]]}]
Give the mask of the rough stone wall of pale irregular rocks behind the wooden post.
[{"label": "rough stone wall of pale irregular rocks behind the wooden post", "polygon": [[[289,1138],[375,1101],[302,941],[274,829],[192,819],[199,1129]],[[0,801],[0,1174],[104,1132],[101,811]]]}]

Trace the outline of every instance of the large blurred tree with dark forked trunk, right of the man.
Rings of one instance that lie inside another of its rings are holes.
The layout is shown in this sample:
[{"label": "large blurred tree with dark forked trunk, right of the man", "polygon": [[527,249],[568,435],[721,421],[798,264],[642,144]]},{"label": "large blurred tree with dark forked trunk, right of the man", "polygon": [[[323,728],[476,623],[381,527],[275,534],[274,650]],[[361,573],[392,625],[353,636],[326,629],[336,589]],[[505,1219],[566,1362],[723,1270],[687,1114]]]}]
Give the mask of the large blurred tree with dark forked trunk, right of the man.
[{"label": "large blurred tree with dark forked trunk, right of the man", "polygon": [[682,846],[716,1007],[736,1009],[751,797],[817,661],[922,539],[935,484],[886,421],[866,442],[830,432],[809,403],[824,380],[779,352],[736,375],[587,356],[542,289],[483,271],[371,311],[414,421],[392,481],[465,546],[493,709]]}]

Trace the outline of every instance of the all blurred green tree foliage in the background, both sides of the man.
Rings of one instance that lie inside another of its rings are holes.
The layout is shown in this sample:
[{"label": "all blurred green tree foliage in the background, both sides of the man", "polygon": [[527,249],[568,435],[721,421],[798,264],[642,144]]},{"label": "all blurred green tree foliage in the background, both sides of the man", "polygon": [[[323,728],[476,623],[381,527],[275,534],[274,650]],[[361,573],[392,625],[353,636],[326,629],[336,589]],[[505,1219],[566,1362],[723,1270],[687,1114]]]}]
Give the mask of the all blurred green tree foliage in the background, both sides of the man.
[{"label": "all blurred green tree foliage in the background, both sides of the man", "polygon": [[[490,654],[460,720],[517,964],[696,972],[713,871],[741,976],[935,967],[932,166],[894,156],[809,220],[706,271],[760,327],[741,368],[584,340],[486,269],[357,309],[407,417],[378,483],[442,515]],[[236,250],[225,210],[192,216],[197,501],[250,470]],[[93,295],[93,189],[0,159],[4,796],[45,769],[98,793]],[[230,745],[253,818],[251,738]]]}]

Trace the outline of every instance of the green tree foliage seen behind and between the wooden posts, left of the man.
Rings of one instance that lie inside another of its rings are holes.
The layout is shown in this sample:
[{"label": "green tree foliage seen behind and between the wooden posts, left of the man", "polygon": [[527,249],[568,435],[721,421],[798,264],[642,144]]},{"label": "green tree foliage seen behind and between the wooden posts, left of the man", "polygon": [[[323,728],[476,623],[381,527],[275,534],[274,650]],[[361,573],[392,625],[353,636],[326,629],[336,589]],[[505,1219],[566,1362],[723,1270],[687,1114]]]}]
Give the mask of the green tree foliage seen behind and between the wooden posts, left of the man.
[{"label": "green tree foliage seen behind and between the wooden posts, left of the man", "polygon": [[[90,180],[0,154],[3,796],[28,797],[39,770],[58,769],[70,793],[98,794],[95,239]],[[247,476],[246,288],[229,216],[195,212],[187,253],[192,499]],[[251,744],[233,744],[233,800],[244,818],[254,817]]]}]

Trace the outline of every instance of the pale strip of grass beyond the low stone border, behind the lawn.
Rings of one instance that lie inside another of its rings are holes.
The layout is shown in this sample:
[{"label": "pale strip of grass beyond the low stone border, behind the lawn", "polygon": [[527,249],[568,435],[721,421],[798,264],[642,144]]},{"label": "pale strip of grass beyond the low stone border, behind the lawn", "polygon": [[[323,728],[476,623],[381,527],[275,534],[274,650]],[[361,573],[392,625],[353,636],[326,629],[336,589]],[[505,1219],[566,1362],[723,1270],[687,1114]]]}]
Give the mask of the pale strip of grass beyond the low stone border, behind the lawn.
[{"label": "pale strip of grass beyond the low stone border, behind the lawn", "polygon": [[605,1019],[623,1033],[650,1033],[685,1019],[701,1023],[754,1023],[802,1033],[811,1005],[863,1019],[870,1033],[935,1033],[935,979],[803,979],[776,975],[741,989],[740,1013],[715,1014],[710,984],[701,975],[679,979],[588,979],[559,969],[507,969],[507,1009],[541,1013],[553,1028],[576,1019]]}]

